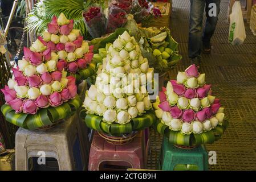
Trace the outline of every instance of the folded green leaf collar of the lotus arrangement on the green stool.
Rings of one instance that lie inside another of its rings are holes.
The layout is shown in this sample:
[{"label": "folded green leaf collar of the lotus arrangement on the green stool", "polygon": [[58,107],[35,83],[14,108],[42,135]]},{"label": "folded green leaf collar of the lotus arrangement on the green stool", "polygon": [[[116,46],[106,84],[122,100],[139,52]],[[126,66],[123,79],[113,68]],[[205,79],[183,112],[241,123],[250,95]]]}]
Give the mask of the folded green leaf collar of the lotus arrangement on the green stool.
[{"label": "folded green leaf collar of the lotus arrangement on the green stool", "polygon": [[200,144],[213,143],[220,139],[228,125],[229,122],[225,119],[222,126],[218,125],[215,129],[210,131],[206,131],[201,134],[192,133],[190,135],[181,134],[180,131],[172,131],[167,125],[164,125],[159,120],[153,124],[153,128],[160,134],[169,138],[170,143],[181,146],[197,146]]}]

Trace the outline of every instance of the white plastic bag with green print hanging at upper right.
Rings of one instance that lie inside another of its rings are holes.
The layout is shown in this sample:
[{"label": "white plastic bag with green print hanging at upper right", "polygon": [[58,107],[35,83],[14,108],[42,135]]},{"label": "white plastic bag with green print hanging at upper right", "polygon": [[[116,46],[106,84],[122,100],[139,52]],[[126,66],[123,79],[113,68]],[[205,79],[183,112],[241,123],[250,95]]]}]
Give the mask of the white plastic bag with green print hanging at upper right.
[{"label": "white plastic bag with green print hanging at upper right", "polygon": [[234,46],[240,45],[246,38],[245,24],[243,24],[243,14],[240,1],[235,1],[229,18],[229,43]]}]

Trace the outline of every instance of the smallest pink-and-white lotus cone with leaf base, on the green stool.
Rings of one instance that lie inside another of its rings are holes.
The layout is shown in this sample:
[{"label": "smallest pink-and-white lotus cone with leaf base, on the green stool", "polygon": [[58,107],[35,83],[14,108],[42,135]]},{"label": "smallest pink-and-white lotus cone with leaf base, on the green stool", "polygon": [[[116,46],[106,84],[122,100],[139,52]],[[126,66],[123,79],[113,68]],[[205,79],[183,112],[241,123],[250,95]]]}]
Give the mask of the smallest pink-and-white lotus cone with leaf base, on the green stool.
[{"label": "smallest pink-and-white lotus cone with leaf base, on the green stool", "polygon": [[178,72],[177,80],[170,80],[162,88],[153,106],[159,118],[157,131],[168,133],[174,144],[213,143],[228,123],[220,99],[212,95],[211,85],[205,83],[205,73],[200,74],[194,64],[185,72]]}]

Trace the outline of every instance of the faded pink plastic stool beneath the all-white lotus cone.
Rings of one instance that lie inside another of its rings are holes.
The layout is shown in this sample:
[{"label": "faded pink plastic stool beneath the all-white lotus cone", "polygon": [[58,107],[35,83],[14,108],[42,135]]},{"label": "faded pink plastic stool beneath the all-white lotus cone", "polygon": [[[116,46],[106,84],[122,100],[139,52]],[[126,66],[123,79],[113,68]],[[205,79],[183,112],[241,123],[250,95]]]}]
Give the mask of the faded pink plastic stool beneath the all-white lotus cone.
[{"label": "faded pink plastic stool beneath the all-white lotus cone", "polygon": [[108,143],[95,132],[89,158],[89,171],[126,170],[145,167],[145,135],[139,131],[131,143],[117,146]]}]

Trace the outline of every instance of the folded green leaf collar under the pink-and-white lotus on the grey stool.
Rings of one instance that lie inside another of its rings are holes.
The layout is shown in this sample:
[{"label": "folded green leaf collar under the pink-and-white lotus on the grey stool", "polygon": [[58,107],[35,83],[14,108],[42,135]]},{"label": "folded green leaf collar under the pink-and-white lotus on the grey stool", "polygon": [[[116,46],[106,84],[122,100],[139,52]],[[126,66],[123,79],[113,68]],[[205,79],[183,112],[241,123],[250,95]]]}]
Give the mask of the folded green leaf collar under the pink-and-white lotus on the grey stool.
[{"label": "folded green leaf collar under the pink-and-white lotus on the grey stool", "polygon": [[13,123],[24,129],[36,129],[38,127],[52,125],[60,119],[71,117],[76,110],[82,105],[82,100],[77,95],[74,100],[64,102],[58,107],[48,107],[40,109],[36,114],[15,114],[15,110],[7,104],[2,105],[1,111],[6,121]]}]

